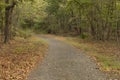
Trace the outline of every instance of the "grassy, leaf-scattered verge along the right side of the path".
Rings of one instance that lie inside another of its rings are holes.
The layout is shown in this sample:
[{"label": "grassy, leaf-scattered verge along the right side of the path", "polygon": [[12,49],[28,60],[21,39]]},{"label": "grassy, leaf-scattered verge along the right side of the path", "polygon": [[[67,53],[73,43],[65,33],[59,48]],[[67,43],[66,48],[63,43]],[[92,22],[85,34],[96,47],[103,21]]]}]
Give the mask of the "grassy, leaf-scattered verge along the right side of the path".
[{"label": "grassy, leaf-scattered verge along the right side of the path", "polygon": [[115,44],[71,37],[62,40],[92,56],[101,70],[120,74],[120,49]]}]

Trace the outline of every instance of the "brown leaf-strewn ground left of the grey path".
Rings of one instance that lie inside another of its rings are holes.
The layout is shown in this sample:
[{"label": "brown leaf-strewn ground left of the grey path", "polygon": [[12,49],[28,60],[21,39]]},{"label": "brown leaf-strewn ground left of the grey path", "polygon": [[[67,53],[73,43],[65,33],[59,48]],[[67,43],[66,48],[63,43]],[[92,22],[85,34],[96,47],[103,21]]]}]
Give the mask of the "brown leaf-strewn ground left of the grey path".
[{"label": "brown leaf-strewn ground left of the grey path", "polygon": [[26,79],[46,50],[47,43],[37,37],[16,37],[8,44],[0,44],[0,80]]}]

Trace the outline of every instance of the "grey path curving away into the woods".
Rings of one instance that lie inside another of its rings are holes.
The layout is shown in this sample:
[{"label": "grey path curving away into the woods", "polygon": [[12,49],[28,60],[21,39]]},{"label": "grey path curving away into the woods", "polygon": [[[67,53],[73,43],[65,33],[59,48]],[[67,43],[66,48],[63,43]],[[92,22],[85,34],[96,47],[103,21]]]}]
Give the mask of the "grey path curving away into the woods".
[{"label": "grey path curving away into the woods", "polygon": [[107,80],[97,65],[76,48],[52,39],[43,62],[31,72],[28,80]]}]

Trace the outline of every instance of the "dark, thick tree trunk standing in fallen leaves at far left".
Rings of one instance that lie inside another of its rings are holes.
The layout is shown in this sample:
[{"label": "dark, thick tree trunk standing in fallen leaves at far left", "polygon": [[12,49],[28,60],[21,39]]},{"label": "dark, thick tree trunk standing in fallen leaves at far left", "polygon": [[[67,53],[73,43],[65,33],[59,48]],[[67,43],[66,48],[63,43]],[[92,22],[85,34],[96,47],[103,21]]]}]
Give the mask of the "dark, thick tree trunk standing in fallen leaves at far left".
[{"label": "dark, thick tree trunk standing in fallen leaves at far left", "polygon": [[[33,0],[30,0],[33,1]],[[9,41],[10,30],[12,25],[12,14],[15,6],[19,5],[20,2],[24,2],[24,0],[5,0],[5,27],[4,27],[4,43]]]}]

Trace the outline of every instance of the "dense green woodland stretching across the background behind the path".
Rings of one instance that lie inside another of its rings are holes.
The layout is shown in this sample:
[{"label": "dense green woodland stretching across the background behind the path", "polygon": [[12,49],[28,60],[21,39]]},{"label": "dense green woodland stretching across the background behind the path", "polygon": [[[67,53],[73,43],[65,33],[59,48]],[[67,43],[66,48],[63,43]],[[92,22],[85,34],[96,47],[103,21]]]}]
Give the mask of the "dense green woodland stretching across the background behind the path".
[{"label": "dense green woodland stretching across the background behind the path", "polygon": [[120,0],[0,0],[0,35],[77,35],[120,41]]}]

